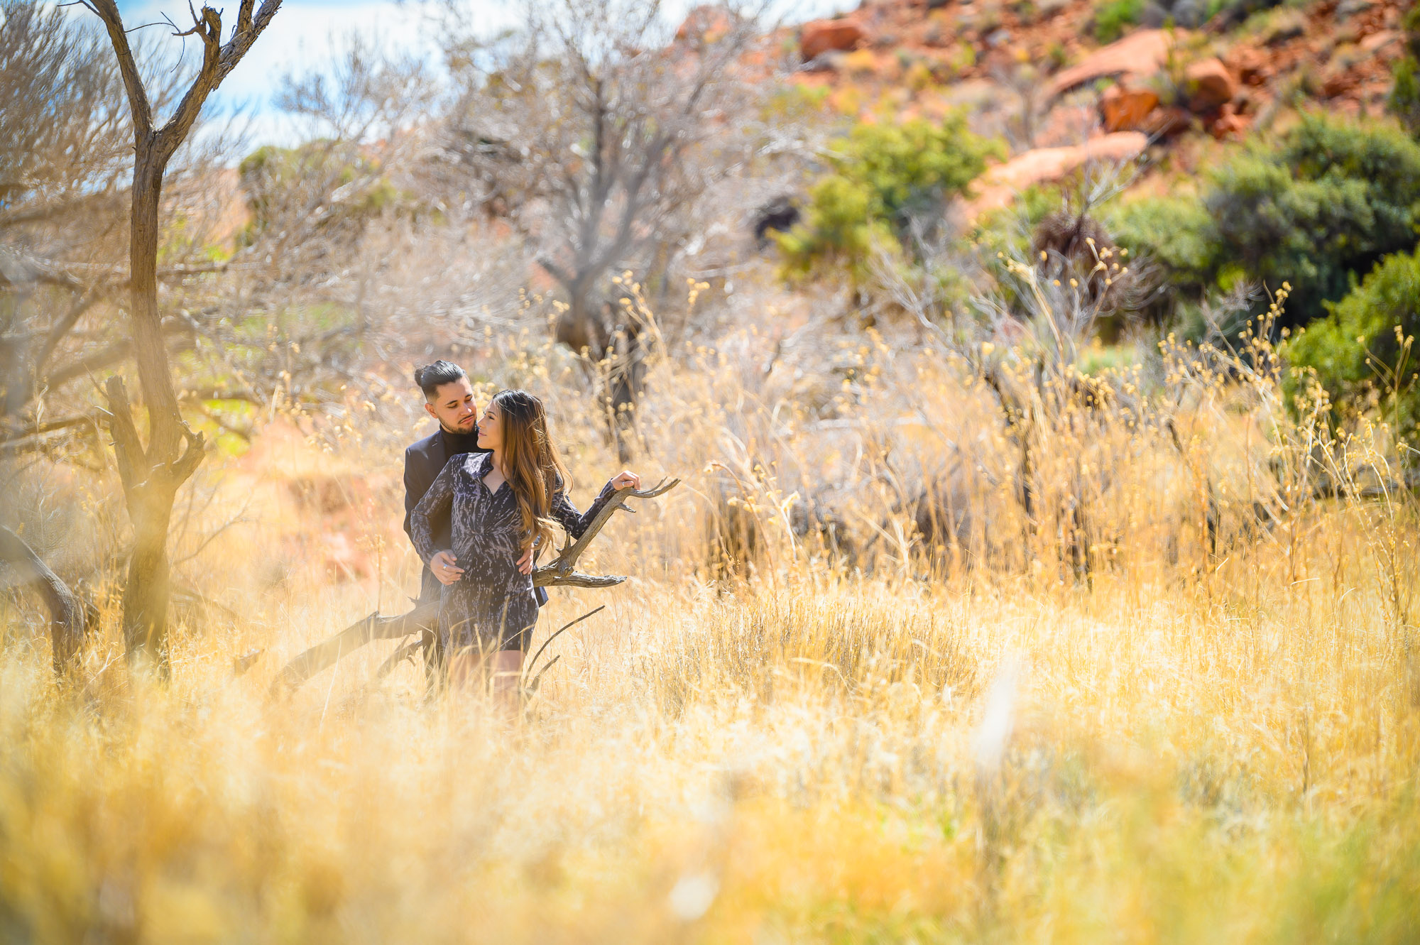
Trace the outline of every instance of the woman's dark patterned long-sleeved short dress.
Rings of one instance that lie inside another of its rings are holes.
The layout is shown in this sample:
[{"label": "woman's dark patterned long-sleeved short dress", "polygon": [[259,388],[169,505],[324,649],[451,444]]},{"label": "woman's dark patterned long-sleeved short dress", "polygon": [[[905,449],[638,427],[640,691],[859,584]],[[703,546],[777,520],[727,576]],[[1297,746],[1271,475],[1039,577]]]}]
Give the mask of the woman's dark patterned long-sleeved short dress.
[{"label": "woman's dark patterned long-sleeved short dress", "polygon": [[[452,457],[409,514],[410,538],[423,562],[427,565],[436,553],[453,551],[463,568],[463,578],[443,585],[439,634],[446,653],[464,647],[525,653],[537,623],[532,576],[517,568],[523,518],[511,485],[503,482],[497,492],[488,491],[483,477],[491,470],[491,453]],[[581,538],[613,492],[608,482],[584,515],[559,490],[548,518],[572,538]],[[453,525],[452,548],[439,548],[433,522],[446,512]]]}]

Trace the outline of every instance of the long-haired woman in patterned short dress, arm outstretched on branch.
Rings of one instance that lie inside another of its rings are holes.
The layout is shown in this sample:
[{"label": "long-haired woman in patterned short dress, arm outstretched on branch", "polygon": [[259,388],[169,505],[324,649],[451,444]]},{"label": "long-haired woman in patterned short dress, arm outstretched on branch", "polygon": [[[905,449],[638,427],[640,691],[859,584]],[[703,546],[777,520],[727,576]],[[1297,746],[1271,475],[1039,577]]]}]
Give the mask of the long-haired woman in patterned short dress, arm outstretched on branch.
[{"label": "long-haired woman in patterned short dress, arm outstretched on branch", "polygon": [[[456,569],[435,569],[444,585],[439,631],[450,681],[466,684],[487,658],[494,692],[515,701],[538,612],[532,578],[518,569],[518,559],[528,548],[545,548],[554,524],[579,538],[612,494],[639,487],[640,477],[621,472],[585,515],[578,514],[567,498],[571,477],[547,433],[542,402],[524,390],[493,397],[479,420],[479,448],[491,453],[454,455],[435,478],[409,514],[410,538],[425,563],[444,551],[456,558]],[[446,511],[449,549],[435,546],[430,525]]]}]

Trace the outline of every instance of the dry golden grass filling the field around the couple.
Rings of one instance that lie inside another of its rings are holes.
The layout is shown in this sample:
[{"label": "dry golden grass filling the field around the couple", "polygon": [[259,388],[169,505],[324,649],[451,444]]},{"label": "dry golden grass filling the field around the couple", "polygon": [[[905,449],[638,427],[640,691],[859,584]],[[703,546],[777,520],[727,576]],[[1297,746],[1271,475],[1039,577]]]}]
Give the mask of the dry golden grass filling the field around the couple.
[{"label": "dry golden grass filling the field around the couple", "polygon": [[[554,597],[538,643],[608,609],[552,644],[515,725],[427,701],[412,665],[378,681],[389,643],[267,694],[285,658],[413,586],[392,475],[408,426],[379,410],[359,443],[308,426],[332,453],[213,460],[190,541],[233,508],[251,521],[183,572],[230,612],[183,612],[170,684],[122,668],[109,603],[82,680],[57,687],[33,602],[11,599],[0,939],[1420,936],[1406,502],[1298,501],[1298,427],[1196,383],[1177,441],[1154,413],[1042,413],[1031,528],[978,372],[873,336],[838,373],[792,352],[764,370],[770,348],[743,332],[655,366],[642,472],[686,485],[609,529],[595,565],[636,579]],[[611,460],[575,370],[535,348],[473,360],[552,392],[585,501]],[[922,548],[910,499],[951,468],[973,525]],[[794,528],[808,498],[853,556]],[[1254,499],[1291,511],[1247,525]],[[717,515],[758,536],[719,583]],[[334,580],[301,541],[337,526],[366,578]]]}]

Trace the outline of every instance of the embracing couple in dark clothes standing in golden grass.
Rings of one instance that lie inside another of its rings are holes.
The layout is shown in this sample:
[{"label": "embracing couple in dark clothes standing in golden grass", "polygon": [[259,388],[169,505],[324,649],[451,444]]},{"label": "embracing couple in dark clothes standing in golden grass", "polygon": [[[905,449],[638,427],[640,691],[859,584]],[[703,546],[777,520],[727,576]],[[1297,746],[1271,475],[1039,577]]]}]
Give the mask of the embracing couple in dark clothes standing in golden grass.
[{"label": "embracing couple in dark clothes standing in golden grass", "polygon": [[452,685],[491,674],[500,701],[515,700],[547,603],[532,565],[552,526],[579,538],[616,490],[640,478],[618,474],[578,512],[541,400],[503,390],[480,416],[469,375],[447,360],[415,370],[415,383],[439,421],[405,451],[405,532],[425,562],[419,600],[442,602],[435,653]]}]

